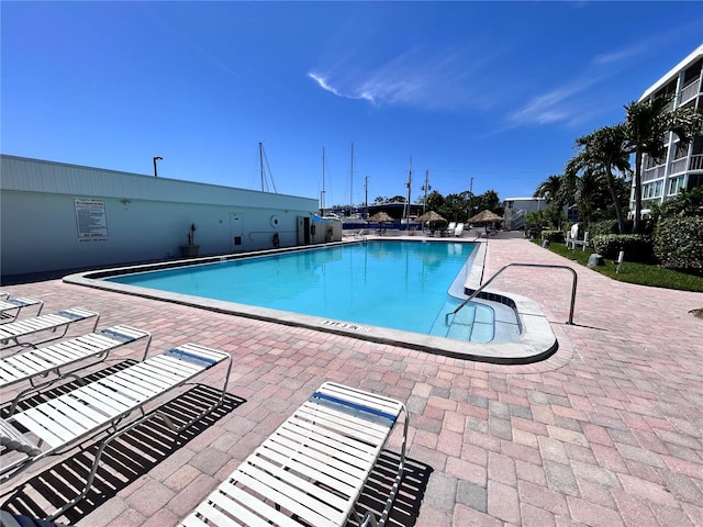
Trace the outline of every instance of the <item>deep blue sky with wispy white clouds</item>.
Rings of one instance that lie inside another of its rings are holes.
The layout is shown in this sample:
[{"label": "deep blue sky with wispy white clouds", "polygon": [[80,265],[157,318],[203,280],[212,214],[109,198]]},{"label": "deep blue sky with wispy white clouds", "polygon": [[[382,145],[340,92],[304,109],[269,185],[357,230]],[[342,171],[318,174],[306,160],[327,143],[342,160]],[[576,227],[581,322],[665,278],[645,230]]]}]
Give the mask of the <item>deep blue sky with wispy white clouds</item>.
[{"label": "deep blue sky with wispy white clouds", "polygon": [[[532,195],[700,2],[1,3],[3,154],[320,198]],[[352,164],[354,145],[354,164]],[[352,170],[353,167],[353,170]]]}]

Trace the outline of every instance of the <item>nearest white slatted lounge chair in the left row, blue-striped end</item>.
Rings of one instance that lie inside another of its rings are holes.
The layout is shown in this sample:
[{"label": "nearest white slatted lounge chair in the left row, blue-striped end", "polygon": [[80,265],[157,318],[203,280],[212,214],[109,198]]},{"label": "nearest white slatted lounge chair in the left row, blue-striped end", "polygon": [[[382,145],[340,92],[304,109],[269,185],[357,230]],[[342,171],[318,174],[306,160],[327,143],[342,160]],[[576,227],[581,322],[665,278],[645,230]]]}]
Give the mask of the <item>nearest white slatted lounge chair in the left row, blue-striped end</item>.
[{"label": "nearest white slatted lounge chair in the left row, blue-striped end", "polygon": [[227,372],[216,402],[187,423],[176,424],[156,411],[169,428],[180,431],[210,414],[224,401],[232,358],[230,354],[186,344],[137,362],[33,408],[0,419],[0,482],[19,474],[29,466],[96,440],[96,458],[80,494],[46,519],[58,517],[82,500],[90,490],[105,447],[138,424],[154,416],[147,403],[161,397],[215,365],[227,361]]}]

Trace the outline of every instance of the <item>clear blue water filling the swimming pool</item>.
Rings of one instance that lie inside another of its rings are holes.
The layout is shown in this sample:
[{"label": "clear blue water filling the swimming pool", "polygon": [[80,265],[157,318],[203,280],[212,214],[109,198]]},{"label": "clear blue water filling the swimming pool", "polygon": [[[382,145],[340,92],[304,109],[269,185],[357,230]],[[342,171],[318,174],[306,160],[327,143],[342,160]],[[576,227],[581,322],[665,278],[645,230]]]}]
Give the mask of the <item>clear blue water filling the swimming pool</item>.
[{"label": "clear blue water filling the swimming pool", "polygon": [[490,306],[472,303],[461,311],[454,328],[444,324],[444,315],[461,302],[448,291],[457,278],[464,284],[475,248],[469,243],[368,240],[108,280],[487,343],[494,336]]}]

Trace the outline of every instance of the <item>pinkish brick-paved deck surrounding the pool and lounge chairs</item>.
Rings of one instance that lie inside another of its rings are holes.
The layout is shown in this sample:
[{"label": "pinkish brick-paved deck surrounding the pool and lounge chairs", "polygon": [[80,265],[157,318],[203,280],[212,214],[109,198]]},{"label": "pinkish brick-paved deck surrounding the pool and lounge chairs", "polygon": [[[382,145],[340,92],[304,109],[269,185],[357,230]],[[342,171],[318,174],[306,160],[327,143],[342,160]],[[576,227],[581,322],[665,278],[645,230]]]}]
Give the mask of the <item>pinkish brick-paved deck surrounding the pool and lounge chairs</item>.
[{"label": "pinkish brick-paved deck surrounding the pool and lounge chairs", "polygon": [[[512,268],[493,282],[544,312],[559,343],[544,361],[447,358],[60,280],[3,287],[44,300],[47,313],[80,305],[101,313],[101,327],[150,330],[152,355],[197,341],[233,357],[231,411],[155,463],[108,478],[94,506],[59,522],[176,525],[330,380],[409,406],[415,480],[398,504],[408,513],[399,525],[703,526],[703,319],[690,314],[703,294],[615,282],[523,238],[491,237],[484,277],[510,262],[577,271],[573,325],[570,272]],[[221,375],[213,370],[210,380]],[[45,470],[11,480],[3,493]]]}]

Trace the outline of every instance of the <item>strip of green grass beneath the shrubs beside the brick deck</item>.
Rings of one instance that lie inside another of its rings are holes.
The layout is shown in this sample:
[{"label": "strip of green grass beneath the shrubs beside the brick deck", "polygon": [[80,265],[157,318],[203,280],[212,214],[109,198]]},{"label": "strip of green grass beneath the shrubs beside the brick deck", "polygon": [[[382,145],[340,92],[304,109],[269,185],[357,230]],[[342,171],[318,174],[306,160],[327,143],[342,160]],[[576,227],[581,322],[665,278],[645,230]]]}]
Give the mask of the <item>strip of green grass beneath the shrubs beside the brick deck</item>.
[{"label": "strip of green grass beneath the shrubs beside the brick deck", "polygon": [[[540,240],[534,240],[534,243],[542,245]],[[576,260],[582,266],[588,264],[589,257],[593,254],[593,250],[581,250],[581,247],[577,247],[576,250],[571,250],[565,244],[550,244],[548,250],[570,260]],[[613,260],[605,259],[604,261],[604,266],[596,266],[593,270],[601,274],[605,274],[613,280],[617,280],[618,282],[637,283],[639,285],[649,285],[652,288],[703,292],[703,277],[700,276],[674,271],[661,266],[629,261],[624,261],[620,272],[616,272],[617,265],[613,262]]]}]

